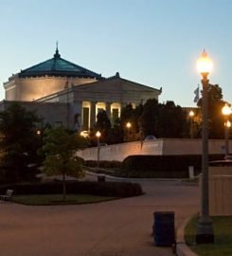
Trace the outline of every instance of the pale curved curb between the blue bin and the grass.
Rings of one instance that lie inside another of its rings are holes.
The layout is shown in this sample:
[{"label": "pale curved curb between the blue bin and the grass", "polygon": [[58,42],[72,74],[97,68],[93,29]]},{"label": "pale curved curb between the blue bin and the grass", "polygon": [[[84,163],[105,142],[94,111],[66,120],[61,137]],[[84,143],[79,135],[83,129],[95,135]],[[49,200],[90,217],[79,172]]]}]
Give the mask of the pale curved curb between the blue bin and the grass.
[{"label": "pale curved curb between the blue bin and the grass", "polygon": [[187,226],[187,222],[191,217],[187,218],[177,229],[176,234],[176,255],[177,256],[198,256],[195,252],[193,252],[189,247],[187,247],[185,241],[185,227]]}]

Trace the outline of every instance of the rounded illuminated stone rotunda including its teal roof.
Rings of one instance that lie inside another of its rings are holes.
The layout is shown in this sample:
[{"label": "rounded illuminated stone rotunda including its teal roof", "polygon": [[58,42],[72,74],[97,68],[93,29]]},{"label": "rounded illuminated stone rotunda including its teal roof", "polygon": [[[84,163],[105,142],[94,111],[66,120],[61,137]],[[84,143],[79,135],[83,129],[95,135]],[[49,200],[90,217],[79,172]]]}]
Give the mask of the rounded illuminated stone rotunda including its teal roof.
[{"label": "rounded illuminated stone rotunda including its teal roof", "polygon": [[61,58],[58,48],[52,59],[35,64],[4,82],[6,101],[36,101],[72,85],[97,82],[100,74]]}]

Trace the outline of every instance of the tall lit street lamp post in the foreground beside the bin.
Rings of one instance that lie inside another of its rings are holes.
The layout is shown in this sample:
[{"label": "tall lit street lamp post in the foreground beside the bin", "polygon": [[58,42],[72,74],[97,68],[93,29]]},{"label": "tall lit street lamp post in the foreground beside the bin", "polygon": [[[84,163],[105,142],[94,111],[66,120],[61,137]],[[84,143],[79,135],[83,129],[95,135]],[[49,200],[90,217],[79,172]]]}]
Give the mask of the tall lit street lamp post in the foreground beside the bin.
[{"label": "tall lit street lamp post in the foreground beside the bin", "polygon": [[201,214],[197,226],[196,242],[197,244],[214,243],[214,234],[212,221],[209,218],[209,200],[208,200],[208,103],[207,90],[208,79],[207,76],[212,70],[213,64],[208,58],[205,50],[201,58],[197,62],[197,69],[202,75],[203,84],[203,127],[202,127],[202,184],[201,184]]}]

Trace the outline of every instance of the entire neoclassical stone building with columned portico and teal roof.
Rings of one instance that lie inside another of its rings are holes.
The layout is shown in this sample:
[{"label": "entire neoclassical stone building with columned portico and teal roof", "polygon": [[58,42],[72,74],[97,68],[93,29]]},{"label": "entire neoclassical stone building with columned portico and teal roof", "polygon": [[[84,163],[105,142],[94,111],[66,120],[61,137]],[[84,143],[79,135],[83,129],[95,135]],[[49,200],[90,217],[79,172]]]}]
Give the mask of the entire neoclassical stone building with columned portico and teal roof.
[{"label": "entire neoclassical stone building with columned portico and teal roof", "polygon": [[102,110],[114,123],[127,104],[135,107],[149,99],[158,101],[162,92],[122,79],[118,72],[111,78],[103,78],[62,59],[58,48],[52,59],[21,70],[4,83],[4,88],[5,104],[20,101],[29,109],[37,109],[45,122],[61,122],[82,131],[93,127]]}]

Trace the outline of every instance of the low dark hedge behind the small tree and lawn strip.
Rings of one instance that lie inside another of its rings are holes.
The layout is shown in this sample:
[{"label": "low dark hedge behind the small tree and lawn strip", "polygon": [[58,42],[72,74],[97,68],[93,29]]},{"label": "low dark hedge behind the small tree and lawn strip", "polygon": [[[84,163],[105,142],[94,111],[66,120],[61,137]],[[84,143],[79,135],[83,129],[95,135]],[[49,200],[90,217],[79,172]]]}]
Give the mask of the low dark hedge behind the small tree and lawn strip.
[{"label": "low dark hedge behind the small tree and lawn strip", "polygon": [[[25,183],[0,187],[0,193],[7,189],[14,190],[15,194],[49,194],[62,193],[62,182]],[[67,193],[95,194],[114,197],[130,197],[142,194],[142,188],[137,183],[130,182],[94,182],[68,181]]]}]

